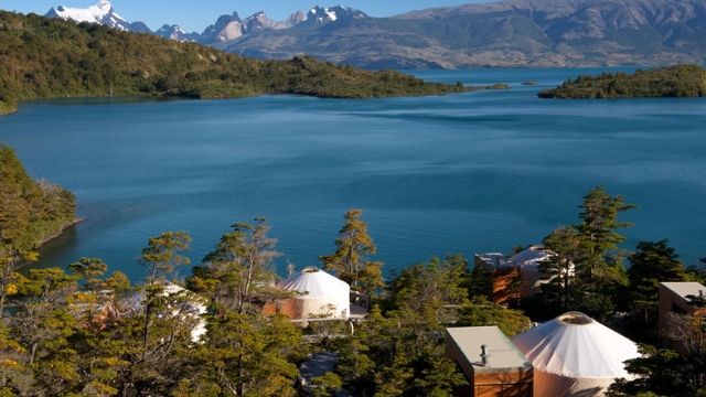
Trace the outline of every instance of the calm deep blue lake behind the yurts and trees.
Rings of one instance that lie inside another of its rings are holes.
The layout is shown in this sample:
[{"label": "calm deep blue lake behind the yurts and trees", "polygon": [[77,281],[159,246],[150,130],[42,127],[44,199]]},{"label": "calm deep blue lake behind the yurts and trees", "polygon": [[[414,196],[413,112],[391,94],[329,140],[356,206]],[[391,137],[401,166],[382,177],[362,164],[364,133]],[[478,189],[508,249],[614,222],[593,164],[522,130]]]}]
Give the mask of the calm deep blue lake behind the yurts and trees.
[{"label": "calm deep blue lake behind the yurts and trees", "polygon": [[706,99],[536,97],[620,69],[632,71],[410,72],[512,87],[431,97],[26,101],[0,118],[0,142],[87,218],[41,249],[41,267],[99,257],[137,281],[150,236],[188,232],[197,264],[235,222],[267,217],[284,273],[320,266],[343,214],[362,208],[387,273],[541,243],[579,222],[597,185],[640,206],[621,214],[634,223],[624,248],[666,238],[694,264],[706,257]]}]

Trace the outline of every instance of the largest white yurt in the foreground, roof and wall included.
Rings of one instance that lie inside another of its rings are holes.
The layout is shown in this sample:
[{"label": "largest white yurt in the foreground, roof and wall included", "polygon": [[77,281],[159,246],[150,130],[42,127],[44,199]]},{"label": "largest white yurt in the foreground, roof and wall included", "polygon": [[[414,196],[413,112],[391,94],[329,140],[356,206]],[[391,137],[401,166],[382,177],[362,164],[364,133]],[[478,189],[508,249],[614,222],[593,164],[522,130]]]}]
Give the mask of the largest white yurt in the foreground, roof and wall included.
[{"label": "largest white yurt in the foreground, roof and wall included", "polygon": [[515,335],[534,366],[535,396],[602,396],[614,378],[632,379],[623,362],[638,345],[584,313],[568,312]]}]

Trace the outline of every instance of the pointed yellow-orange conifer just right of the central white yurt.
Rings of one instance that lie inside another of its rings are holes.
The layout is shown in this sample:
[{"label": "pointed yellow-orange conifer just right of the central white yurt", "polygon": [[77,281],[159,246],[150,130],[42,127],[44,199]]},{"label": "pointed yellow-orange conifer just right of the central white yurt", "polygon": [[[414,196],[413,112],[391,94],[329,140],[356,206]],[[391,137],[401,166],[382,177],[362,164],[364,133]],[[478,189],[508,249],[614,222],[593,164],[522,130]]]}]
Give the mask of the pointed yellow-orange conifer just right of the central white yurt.
[{"label": "pointed yellow-orange conifer just right of the central white yurt", "polygon": [[322,255],[319,260],[324,269],[335,271],[341,280],[351,285],[352,290],[375,294],[378,288],[384,287],[383,262],[367,260],[367,255],[374,255],[377,247],[367,234],[367,223],[360,219],[361,215],[362,210],[345,213],[345,225],[335,240],[336,251]]}]

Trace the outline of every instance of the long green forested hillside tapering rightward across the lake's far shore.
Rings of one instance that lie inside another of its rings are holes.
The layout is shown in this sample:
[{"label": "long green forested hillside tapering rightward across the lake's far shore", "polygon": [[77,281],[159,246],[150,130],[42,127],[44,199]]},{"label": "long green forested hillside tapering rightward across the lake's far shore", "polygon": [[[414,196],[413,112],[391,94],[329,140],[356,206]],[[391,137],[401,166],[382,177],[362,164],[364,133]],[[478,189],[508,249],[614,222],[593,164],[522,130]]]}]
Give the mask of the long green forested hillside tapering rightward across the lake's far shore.
[{"label": "long green forested hillside tapering rightward across the lake's far shore", "polygon": [[173,95],[233,98],[300,94],[334,98],[478,89],[394,71],[336,66],[309,56],[259,61],[100,24],[0,11],[0,114],[17,100]]}]

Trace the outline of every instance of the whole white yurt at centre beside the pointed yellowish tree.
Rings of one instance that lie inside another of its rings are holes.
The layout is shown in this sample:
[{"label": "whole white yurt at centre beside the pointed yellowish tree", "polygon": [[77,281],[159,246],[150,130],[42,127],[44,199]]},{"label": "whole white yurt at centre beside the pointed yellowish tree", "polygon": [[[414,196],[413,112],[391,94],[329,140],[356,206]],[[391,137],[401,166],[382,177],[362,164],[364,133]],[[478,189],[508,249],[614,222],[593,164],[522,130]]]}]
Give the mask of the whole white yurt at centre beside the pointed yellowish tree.
[{"label": "whole white yurt at centre beside the pointed yellowish tree", "polygon": [[280,281],[277,288],[299,292],[277,303],[277,311],[292,320],[325,315],[349,319],[351,286],[317,267],[308,267]]}]

